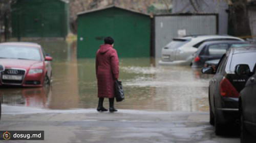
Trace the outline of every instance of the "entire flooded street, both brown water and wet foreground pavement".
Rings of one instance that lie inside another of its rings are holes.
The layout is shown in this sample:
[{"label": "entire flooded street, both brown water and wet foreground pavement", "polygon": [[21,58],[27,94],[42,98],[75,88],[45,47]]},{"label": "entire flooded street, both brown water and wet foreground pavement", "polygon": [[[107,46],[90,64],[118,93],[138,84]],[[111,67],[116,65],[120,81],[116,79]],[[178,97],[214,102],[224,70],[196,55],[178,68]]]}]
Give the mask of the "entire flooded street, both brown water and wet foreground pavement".
[{"label": "entire flooded street, both brown water and wet foreground pavement", "polygon": [[[40,44],[53,57],[51,85],[1,87],[2,130],[42,130],[49,143],[239,142],[237,136],[216,136],[209,125],[207,92],[212,76],[198,69],[154,66],[150,58],[121,58],[125,100],[115,103],[118,112],[101,113],[95,109],[95,60],[77,59],[76,43]],[[104,106],[109,107],[108,100]]]}]

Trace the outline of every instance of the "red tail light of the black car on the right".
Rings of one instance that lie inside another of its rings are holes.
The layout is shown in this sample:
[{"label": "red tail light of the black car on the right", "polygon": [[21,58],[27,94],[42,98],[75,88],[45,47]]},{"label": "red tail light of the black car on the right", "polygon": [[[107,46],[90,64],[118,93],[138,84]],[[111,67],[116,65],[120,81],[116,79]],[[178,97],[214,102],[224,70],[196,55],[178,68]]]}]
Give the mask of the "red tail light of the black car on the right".
[{"label": "red tail light of the black car on the right", "polygon": [[229,98],[238,98],[239,92],[236,88],[230,83],[230,81],[226,78],[223,78],[220,83],[220,92],[221,96],[229,97]]}]

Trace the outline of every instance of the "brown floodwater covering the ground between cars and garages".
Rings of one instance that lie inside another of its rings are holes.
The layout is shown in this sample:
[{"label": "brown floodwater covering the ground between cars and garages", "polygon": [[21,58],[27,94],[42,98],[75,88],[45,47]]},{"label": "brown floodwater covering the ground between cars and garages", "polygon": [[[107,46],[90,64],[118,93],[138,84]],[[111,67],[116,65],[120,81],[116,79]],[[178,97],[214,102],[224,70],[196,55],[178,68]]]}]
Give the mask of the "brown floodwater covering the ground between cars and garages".
[{"label": "brown floodwater covering the ground between cars and garages", "polygon": [[[53,57],[50,86],[1,87],[2,103],[46,109],[96,108],[97,82],[94,59],[77,59],[76,43],[39,42]],[[160,66],[150,58],[121,58],[120,81],[125,100],[117,109],[162,111],[207,111],[208,82],[189,66]],[[104,106],[108,107],[105,99]]]}]

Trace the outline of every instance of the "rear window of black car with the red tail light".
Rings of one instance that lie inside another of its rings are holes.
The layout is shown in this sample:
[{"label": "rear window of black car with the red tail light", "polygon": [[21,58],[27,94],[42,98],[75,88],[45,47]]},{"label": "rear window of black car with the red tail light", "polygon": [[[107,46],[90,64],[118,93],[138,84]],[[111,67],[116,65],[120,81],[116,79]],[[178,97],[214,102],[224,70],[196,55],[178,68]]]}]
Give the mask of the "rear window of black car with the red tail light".
[{"label": "rear window of black car with the red tail light", "polygon": [[240,54],[234,54],[232,56],[232,62],[230,65],[230,71],[234,71],[234,68],[238,64],[248,64],[250,67],[250,70],[253,70],[253,67],[256,63],[256,52],[252,53],[240,53]]}]

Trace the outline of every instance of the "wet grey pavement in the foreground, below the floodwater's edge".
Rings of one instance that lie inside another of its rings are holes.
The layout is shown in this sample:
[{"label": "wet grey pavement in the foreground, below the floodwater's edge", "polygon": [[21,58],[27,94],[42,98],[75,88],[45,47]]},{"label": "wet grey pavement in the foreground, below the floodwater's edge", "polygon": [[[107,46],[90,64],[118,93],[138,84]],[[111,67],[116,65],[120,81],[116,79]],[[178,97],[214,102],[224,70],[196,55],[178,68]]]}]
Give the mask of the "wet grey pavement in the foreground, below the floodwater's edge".
[{"label": "wet grey pavement in the foreground, below the floodwater's edge", "polygon": [[[44,130],[44,141],[32,142],[239,142],[216,136],[207,112],[95,109],[46,110],[3,106],[1,130]],[[9,140],[8,142],[31,142]]]}]

